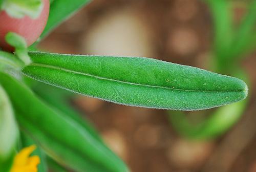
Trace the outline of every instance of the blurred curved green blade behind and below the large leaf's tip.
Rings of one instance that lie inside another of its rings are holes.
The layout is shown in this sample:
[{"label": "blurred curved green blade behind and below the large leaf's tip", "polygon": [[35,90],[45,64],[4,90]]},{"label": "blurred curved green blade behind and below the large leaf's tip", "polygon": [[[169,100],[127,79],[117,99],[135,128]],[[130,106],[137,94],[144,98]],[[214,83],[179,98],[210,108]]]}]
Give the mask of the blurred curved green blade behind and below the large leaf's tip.
[{"label": "blurred curved green blade behind and below the large leaf's tip", "polygon": [[[243,70],[237,68],[236,71],[232,71],[232,74],[250,83],[247,74]],[[232,125],[238,122],[247,104],[248,98],[219,107],[214,111],[193,112],[189,114],[192,120],[188,118],[188,114],[180,111],[169,111],[168,117],[172,126],[183,137],[197,140],[215,139],[227,132]],[[197,120],[195,123],[195,119],[200,117],[200,115],[203,119]]]}]

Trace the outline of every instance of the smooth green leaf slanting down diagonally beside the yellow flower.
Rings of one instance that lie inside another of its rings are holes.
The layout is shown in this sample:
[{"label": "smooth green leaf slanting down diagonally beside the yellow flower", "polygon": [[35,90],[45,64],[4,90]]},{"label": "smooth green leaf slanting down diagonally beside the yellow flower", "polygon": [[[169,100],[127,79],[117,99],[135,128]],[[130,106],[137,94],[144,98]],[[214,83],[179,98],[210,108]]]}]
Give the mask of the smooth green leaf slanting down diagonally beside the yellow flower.
[{"label": "smooth green leaf slanting down diagonally beside the yellow flower", "polygon": [[[39,100],[25,84],[0,73],[17,121],[54,160],[75,171],[128,171],[125,164],[83,126]],[[18,98],[17,98],[18,95]]]}]

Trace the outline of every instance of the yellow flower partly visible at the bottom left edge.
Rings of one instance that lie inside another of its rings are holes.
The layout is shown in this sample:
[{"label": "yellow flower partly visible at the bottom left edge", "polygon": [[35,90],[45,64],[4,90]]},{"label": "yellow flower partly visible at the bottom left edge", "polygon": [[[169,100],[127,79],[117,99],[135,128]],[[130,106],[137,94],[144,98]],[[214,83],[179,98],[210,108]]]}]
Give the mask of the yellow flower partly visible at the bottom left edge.
[{"label": "yellow flower partly visible at the bottom left edge", "polygon": [[40,163],[38,156],[29,157],[36,146],[26,147],[15,156],[10,172],[37,172],[37,165]]}]

